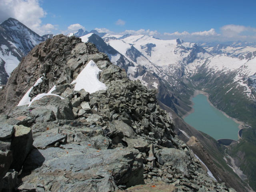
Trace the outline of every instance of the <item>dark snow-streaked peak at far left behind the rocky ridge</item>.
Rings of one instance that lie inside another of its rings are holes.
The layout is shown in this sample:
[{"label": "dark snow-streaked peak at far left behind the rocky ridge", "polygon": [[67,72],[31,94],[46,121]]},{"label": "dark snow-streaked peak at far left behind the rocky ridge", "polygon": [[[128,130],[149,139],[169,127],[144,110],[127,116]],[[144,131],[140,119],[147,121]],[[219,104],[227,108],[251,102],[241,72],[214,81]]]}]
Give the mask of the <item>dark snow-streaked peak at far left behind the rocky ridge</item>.
[{"label": "dark snow-streaked peak at far left behind the rocky ridge", "polygon": [[0,84],[34,46],[46,40],[14,18],[0,24]]}]

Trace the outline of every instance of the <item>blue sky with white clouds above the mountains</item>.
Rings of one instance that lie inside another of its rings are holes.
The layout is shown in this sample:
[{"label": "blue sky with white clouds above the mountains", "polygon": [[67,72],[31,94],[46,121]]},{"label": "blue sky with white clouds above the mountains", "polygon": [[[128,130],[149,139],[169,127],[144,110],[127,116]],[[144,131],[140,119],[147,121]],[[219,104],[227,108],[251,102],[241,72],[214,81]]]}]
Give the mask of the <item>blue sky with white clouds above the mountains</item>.
[{"label": "blue sky with white clouds above the mountains", "polygon": [[255,7],[255,0],[1,0],[0,22],[13,17],[40,35],[83,28],[186,41],[256,41]]}]

